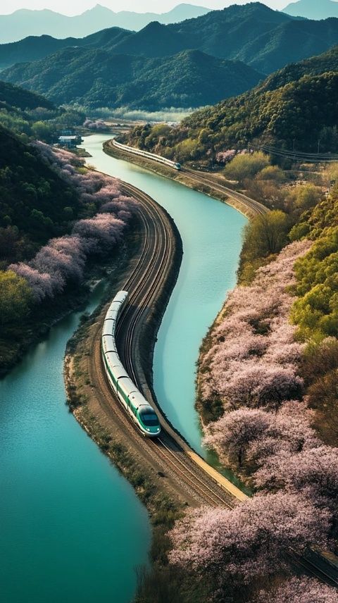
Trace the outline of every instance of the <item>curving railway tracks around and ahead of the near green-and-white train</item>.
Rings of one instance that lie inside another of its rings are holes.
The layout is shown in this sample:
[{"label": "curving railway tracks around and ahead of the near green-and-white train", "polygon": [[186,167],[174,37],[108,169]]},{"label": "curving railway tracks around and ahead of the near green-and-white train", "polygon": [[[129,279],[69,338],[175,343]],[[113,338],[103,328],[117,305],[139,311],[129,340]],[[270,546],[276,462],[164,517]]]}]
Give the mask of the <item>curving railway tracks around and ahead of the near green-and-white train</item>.
[{"label": "curving railway tracks around and ahead of the near green-and-white train", "polygon": [[[137,209],[139,220],[144,228],[144,242],[137,265],[123,285],[130,292],[129,303],[123,311],[117,329],[117,343],[121,361],[139,390],[144,391],[144,383],[139,378],[139,328],[149,316],[158,294],[165,282],[168,266],[173,254],[173,232],[170,218],[155,201],[132,185],[122,185],[123,192],[133,195],[139,201]],[[162,417],[161,439],[147,440],[137,430],[134,422],[125,413],[122,405],[115,402],[113,392],[108,386],[104,367],[101,362],[100,337],[101,322],[97,327],[93,347],[94,367],[92,381],[101,392],[100,403],[108,413],[118,411],[118,418],[123,428],[130,433],[131,439],[137,440],[149,459],[156,459],[164,469],[169,469],[170,476],[186,490],[187,497],[193,504],[210,504],[213,506],[230,506],[231,497],[210,476],[203,471],[184,452],[179,444],[166,433]]]}]

